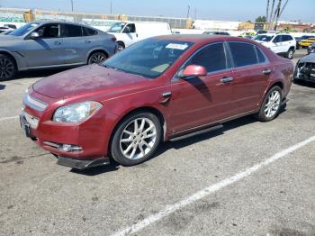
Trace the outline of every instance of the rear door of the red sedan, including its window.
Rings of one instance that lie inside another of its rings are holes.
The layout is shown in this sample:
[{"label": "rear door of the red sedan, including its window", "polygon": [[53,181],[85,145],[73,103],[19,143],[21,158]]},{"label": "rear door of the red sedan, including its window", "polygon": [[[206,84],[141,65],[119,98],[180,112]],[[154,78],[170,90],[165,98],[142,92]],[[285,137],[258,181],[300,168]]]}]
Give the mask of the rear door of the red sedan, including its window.
[{"label": "rear door of the red sedan, including its window", "polygon": [[254,44],[238,41],[228,45],[233,60],[232,113],[236,115],[256,110],[273,73],[273,66]]}]

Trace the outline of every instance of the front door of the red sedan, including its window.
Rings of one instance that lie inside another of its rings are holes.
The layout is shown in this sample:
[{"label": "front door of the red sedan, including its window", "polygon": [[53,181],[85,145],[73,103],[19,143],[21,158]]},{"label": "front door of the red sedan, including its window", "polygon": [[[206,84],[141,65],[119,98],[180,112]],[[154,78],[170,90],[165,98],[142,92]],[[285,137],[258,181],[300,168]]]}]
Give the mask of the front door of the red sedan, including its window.
[{"label": "front door of the red sedan, including its window", "polygon": [[183,132],[229,116],[232,70],[223,43],[199,50],[183,66],[207,69],[205,77],[175,78],[172,82],[172,132]]}]

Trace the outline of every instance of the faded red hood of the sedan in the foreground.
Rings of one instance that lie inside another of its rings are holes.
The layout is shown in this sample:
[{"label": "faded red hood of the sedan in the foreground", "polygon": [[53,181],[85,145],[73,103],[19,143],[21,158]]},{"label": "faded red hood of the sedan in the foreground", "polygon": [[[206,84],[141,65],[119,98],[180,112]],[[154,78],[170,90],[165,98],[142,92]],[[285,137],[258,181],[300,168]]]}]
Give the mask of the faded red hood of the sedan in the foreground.
[{"label": "faded red hood of the sedan in the foreground", "polygon": [[73,95],[93,95],[98,92],[102,92],[102,95],[126,94],[132,88],[148,81],[150,80],[146,77],[90,65],[40,79],[32,88],[40,95],[62,99]]}]

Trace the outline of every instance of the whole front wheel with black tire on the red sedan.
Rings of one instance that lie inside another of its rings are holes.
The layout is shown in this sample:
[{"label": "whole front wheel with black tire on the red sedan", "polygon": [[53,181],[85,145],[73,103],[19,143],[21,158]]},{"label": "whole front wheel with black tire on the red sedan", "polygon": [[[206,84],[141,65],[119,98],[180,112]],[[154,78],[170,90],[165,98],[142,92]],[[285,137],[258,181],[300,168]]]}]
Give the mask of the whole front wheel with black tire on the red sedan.
[{"label": "whole front wheel with black tire on the red sedan", "polygon": [[114,132],[112,158],[125,167],[151,158],[161,141],[162,127],[153,113],[139,112],[126,117]]}]

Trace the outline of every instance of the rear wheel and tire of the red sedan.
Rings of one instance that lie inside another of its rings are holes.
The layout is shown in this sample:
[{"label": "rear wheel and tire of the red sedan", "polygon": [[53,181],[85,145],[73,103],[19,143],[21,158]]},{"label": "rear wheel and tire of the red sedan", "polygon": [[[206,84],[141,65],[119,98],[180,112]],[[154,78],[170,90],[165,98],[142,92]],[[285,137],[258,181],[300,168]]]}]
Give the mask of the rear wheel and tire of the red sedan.
[{"label": "rear wheel and tire of the red sedan", "polygon": [[272,87],[266,94],[259,113],[257,113],[257,120],[265,123],[274,120],[280,112],[282,100],[282,89],[279,86]]}]

